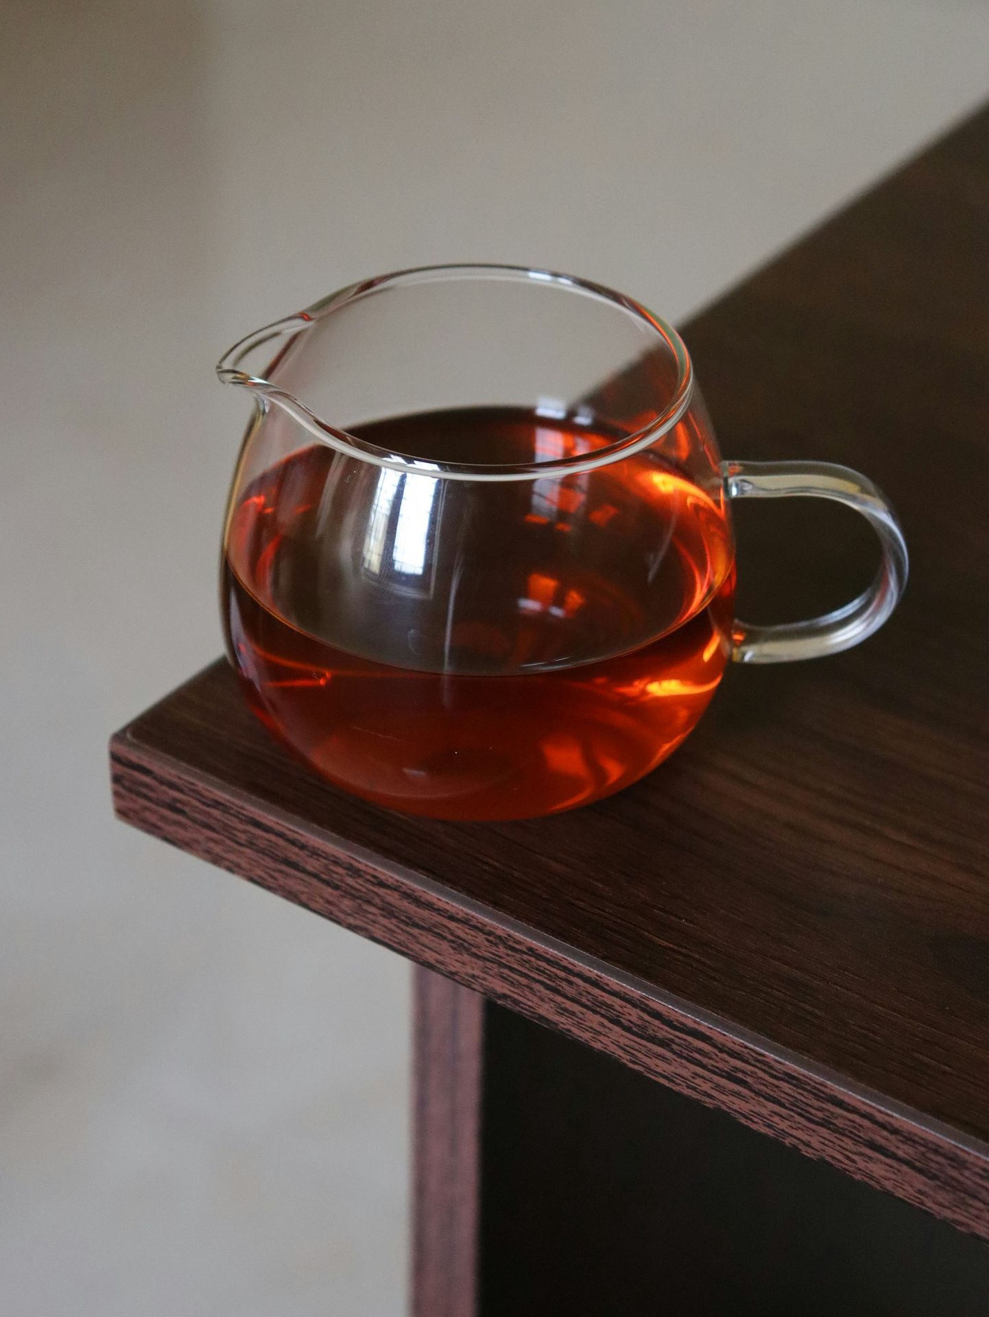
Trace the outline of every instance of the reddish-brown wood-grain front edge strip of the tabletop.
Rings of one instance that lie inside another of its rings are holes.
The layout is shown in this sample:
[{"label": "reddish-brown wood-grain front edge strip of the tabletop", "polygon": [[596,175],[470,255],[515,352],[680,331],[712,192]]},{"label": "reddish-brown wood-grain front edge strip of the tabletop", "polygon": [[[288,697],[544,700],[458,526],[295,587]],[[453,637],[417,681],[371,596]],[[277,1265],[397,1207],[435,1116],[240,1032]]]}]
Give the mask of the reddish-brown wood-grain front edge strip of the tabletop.
[{"label": "reddish-brown wood-grain front edge strip of the tabletop", "polygon": [[262,817],[249,793],[142,743],[141,722],[111,740],[122,820],[989,1239],[981,1138],[291,811]]}]

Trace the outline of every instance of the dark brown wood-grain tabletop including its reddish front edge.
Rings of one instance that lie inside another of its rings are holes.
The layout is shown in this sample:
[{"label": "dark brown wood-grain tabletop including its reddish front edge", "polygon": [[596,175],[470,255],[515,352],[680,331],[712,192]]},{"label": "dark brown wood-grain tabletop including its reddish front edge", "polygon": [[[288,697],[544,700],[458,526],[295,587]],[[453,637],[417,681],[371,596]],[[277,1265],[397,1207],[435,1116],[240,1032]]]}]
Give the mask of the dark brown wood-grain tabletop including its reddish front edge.
[{"label": "dark brown wood-grain tabletop including its reddish front edge", "polygon": [[[893,499],[878,636],[732,670],[637,786],[499,824],[324,785],[220,661],[115,738],[117,811],[989,1238],[989,111],[683,335],[727,457]],[[751,620],[874,568],[842,510],[740,512]]]}]

